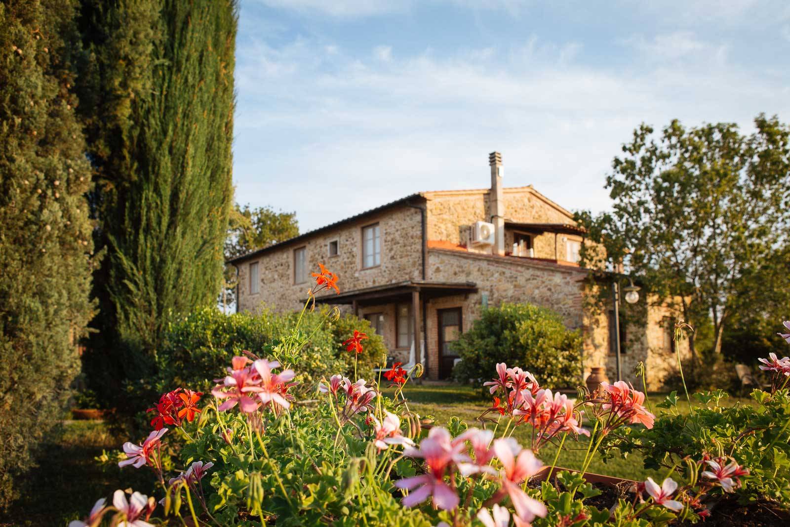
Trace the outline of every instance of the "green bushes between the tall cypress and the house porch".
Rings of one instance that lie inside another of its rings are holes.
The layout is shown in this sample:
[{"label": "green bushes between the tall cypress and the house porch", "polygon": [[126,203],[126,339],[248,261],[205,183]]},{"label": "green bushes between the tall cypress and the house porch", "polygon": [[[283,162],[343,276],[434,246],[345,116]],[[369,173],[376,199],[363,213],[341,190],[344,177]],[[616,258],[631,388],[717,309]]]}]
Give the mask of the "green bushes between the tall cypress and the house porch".
[{"label": "green bushes between the tall cypress and the house porch", "polygon": [[[365,351],[359,354],[358,377],[372,378],[373,368],[386,357],[382,337],[373,334],[370,322],[351,314],[335,320],[327,317],[326,311],[325,307],[306,311],[299,325],[299,330],[309,337],[300,354],[296,378],[305,390],[314,389],[322,377],[354,373],[355,354],[347,352],[342,345],[354,329],[370,337],[363,341]],[[276,348],[276,341],[288,338],[298,318],[298,312],[269,310],[230,315],[214,308],[195,311],[167,329],[164,346],[156,354],[159,373],[152,388],[156,393],[179,386],[209,392],[217,372],[224,371],[232,356],[241,355],[243,350],[273,356],[272,346]]]}]

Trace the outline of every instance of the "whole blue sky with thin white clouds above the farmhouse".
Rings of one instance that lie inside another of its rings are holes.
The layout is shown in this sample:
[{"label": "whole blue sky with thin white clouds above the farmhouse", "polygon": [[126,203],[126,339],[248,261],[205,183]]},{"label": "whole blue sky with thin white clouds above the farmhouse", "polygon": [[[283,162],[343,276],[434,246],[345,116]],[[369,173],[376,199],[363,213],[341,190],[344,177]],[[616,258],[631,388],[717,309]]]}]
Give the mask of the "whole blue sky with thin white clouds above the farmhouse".
[{"label": "whole blue sky with thin white clouds above the farmhouse", "polygon": [[609,206],[634,127],[790,121],[790,2],[242,0],[236,201],[302,232],[420,190]]}]

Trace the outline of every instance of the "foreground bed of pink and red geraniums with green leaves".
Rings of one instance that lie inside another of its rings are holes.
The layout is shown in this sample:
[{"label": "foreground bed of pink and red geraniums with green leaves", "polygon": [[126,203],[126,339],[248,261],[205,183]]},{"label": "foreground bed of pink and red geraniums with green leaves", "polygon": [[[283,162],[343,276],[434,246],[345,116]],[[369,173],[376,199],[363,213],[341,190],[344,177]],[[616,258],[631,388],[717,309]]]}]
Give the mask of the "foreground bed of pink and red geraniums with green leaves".
[{"label": "foreground bed of pink and red geraniums with green leaves", "polygon": [[[336,288],[323,267],[314,277],[310,298]],[[126,442],[115,458],[151,470],[156,497],[115,491],[111,505],[100,499],[71,527],[685,525],[732,515],[738,500],[747,510],[769,506],[777,525],[787,525],[790,359],[766,361],[773,390],[755,390],[754,407],[724,408],[723,393],[702,393],[681,416],[672,393],[656,405],[665,410],[657,417],[625,382],[573,400],[499,363],[484,383],[493,401],[480,426],[451,419],[435,427],[404,397],[419,364],[395,364],[378,381],[333,375],[313,387],[318,403],[297,401],[294,365],[307,336],[294,335],[267,348],[270,356],[233,357],[210,396],[186,387],[164,393],[149,408],[145,441]],[[362,352],[366,337],[349,336],[347,352]],[[386,384],[392,397],[382,395]],[[526,445],[512,437],[520,427],[529,430]],[[582,435],[589,442],[581,471],[558,469]],[[548,445],[559,448],[542,460]],[[666,476],[585,473],[596,456],[635,451]]]}]

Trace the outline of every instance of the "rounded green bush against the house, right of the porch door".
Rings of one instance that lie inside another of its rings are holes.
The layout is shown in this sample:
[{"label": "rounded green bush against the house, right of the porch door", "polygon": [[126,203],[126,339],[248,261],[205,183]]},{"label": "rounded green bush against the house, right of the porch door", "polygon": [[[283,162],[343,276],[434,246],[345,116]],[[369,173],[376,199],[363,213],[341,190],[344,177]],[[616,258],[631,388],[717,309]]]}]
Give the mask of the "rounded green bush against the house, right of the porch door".
[{"label": "rounded green bush against the house, right of the porch door", "polygon": [[461,382],[493,377],[497,363],[521,367],[543,386],[581,382],[581,335],[554,311],[529,303],[483,310],[453,348],[461,357],[453,376]]}]

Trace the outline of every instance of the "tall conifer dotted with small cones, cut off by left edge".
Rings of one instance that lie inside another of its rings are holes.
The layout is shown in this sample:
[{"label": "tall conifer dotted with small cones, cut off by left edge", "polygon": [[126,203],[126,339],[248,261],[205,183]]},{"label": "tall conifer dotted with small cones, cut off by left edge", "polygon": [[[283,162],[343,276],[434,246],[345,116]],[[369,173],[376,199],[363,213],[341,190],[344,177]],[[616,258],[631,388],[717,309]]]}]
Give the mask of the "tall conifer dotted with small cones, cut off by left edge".
[{"label": "tall conifer dotted with small cones, cut off by left edge", "polygon": [[75,2],[0,3],[0,510],[62,419],[92,316]]}]

